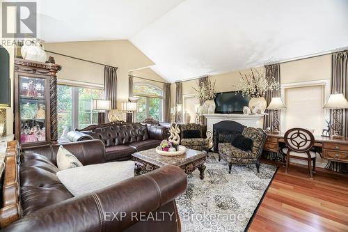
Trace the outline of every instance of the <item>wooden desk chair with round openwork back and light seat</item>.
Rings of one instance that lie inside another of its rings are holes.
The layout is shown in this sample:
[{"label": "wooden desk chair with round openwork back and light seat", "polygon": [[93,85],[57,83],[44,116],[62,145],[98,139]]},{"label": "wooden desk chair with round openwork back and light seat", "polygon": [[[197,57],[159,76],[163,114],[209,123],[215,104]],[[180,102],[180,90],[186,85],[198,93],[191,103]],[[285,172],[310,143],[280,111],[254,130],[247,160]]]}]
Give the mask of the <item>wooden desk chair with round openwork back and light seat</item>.
[{"label": "wooden desk chair with round openwork back and light seat", "polygon": [[[314,136],[312,132],[303,128],[292,128],[287,130],[284,135],[286,148],[282,151],[286,154],[286,169],[285,173],[289,170],[290,158],[307,160],[309,176],[313,179],[313,172],[315,172],[315,159],[317,153],[310,150],[314,145]],[[313,169],[312,164],[313,162]]]}]

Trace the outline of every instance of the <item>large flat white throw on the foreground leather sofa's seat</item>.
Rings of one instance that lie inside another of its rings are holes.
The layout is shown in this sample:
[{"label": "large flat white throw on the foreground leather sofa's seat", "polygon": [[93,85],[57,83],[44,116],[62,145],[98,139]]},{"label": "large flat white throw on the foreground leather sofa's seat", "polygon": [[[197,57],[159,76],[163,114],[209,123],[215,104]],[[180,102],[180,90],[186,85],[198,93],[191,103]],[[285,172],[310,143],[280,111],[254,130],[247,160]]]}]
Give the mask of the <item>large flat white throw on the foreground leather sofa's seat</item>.
[{"label": "large flat white throw on the foreground leather sofa's seat", "polygon": [[134,161],[92,164],[58,171],[61,183],[74,196],[88,194],[134,176]]}]

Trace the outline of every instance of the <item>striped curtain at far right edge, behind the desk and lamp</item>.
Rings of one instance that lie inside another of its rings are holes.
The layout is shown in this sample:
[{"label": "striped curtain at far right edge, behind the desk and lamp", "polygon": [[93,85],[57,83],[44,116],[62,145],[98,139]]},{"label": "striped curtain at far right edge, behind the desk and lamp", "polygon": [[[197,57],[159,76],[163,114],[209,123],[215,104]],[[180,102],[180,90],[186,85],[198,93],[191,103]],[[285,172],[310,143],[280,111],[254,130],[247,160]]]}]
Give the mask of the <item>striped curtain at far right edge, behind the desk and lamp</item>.
[{"label": "striped curtain at far right edge, behind the desk and lamp", "polygon": [[[331,93],[343,93],[348,99],[348,50],[336,52],[331,56]],[[341,113],[342,135],[348,137],[348,109],[343,109]],[[332,122],[332,115],[330,115],[330,121]],[[348,165],[329,161],[326,169],[348,172]]]}]

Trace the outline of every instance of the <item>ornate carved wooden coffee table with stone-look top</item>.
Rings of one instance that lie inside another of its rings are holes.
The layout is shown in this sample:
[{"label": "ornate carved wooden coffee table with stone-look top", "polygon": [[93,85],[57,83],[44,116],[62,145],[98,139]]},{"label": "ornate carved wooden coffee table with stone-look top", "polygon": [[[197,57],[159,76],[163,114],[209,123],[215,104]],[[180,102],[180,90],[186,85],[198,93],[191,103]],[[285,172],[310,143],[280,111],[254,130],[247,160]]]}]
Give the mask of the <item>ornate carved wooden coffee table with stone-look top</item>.
[{"label": "ornate carved wooden coffee table with stone-look top", "polygon": [[153,171],[166,165],[174,165],[184,169],[187,174],[191,174],[198,169],[200,171],[200,179],[203,180],[204,162],[207,159],[205,151],[187,149],[183,155],[170,157],[157,154],[155,149],[143,150],[132,155],[133,160],[136,162],[136,174],[139,175],[141,171]]}]

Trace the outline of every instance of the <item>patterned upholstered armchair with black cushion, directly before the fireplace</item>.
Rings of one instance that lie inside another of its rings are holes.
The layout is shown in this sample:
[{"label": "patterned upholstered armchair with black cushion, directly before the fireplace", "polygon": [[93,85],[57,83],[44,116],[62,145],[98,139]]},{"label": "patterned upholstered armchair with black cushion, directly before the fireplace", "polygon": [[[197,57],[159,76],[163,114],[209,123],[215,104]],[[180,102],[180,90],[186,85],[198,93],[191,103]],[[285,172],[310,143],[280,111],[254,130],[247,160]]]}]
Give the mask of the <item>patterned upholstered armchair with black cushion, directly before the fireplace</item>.
[{"label": "patterned upholstered armchair with black cushion, directly before the fireplace", "polygon": [[219,144],[219,157],[228,162],[228,173],[231,173],[232,164],[255,164],[259,172],[260,156],[267,134],[261,128],[246,127],[242,135],[253,141],[251,150],[241,150],[231,144]]}]

